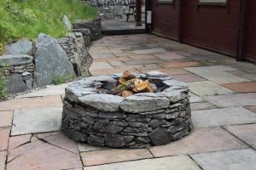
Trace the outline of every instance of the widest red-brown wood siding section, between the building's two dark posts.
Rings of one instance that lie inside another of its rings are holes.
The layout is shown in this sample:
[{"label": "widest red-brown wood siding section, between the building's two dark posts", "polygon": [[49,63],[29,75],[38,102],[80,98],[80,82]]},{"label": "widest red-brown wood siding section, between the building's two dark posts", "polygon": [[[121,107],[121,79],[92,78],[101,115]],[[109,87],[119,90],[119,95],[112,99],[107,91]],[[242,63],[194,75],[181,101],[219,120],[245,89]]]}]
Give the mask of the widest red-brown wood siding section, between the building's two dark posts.
[{"label": "widest red-brown wood siding section, between the building's two dark posts", "polygon": [[198,6],[198,0],[185,1],[183,42],[235,56],[239,0],[227,2],[226,7],[213,7]]}]

